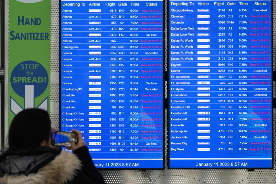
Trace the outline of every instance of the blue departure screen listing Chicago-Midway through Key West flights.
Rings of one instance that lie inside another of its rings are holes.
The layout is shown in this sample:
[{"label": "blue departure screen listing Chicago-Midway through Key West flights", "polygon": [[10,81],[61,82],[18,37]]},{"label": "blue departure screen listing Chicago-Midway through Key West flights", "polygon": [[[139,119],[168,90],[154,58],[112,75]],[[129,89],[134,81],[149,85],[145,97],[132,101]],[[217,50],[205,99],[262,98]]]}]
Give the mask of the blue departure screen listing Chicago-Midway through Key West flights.
[{"label": "blue departure screen listing Chicago-Midway through Key West flights", "polygon": [[271,168],[271,1],[168,3],[169,167]]}]

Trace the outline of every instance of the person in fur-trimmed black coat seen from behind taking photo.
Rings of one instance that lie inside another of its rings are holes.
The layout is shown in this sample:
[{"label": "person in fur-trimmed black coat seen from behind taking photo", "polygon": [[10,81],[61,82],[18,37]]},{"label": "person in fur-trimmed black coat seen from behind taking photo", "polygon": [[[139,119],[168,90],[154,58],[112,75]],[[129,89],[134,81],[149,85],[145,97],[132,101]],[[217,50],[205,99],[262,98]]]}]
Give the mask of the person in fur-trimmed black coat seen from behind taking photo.
[{"label": "person in fur-trimmed black coat seen from behind taking photo", "polygon": [[0,156],[1,184],[104,184],[82,135],[71,141],[73,154],[51,147],[49,114],[40,109],[19,112],[11,122],[8,149]]}]

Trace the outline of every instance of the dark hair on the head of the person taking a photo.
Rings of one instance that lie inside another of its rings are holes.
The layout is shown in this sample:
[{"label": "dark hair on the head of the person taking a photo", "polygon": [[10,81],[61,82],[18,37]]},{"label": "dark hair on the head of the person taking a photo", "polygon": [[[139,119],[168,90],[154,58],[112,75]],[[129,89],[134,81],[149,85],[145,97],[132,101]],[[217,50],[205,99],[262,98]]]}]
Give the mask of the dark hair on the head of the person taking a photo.
[{"label": "dark hair on the head of the person taking a photo", "polygon": [[51,131],[49,114],[41,109],[19,112],[9,127],[9,149],[26,149],[48,141]]}]

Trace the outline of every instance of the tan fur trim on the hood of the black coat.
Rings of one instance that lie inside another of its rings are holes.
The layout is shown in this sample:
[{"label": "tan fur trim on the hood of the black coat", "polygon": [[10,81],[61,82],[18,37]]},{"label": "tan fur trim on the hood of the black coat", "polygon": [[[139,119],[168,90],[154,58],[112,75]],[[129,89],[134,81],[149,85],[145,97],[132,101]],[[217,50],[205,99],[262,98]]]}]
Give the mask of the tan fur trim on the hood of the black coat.
[{"label": "tan fur trim on the hood of the black coat", "polygon": [[64,184],[72,181],[81,167],[75,154],[61,152],[36,173],[6,174],[0,177],[0,184]]}]

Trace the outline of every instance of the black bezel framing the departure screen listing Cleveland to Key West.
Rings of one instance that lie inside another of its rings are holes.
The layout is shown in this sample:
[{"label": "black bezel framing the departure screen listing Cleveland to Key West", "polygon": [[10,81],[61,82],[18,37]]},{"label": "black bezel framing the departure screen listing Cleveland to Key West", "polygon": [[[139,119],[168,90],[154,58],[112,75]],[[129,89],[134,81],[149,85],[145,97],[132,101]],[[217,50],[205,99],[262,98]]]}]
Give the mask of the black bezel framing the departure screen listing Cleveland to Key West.
[{"label": "black bezel framing the departure screen listing Cleveland to Key West", "polygon": [[168,52],[167,52],[167,63],[168,63],[168,81],[167,81],[167,96],[168,96],[168,109],[167,109],[167,124],[168,124],[168,127],[167,127],[167,134],[168,134],[168,158],[167,158],[167,164],[168,164],[168,169],[208,169],[208,170],[213,170],[213,169],[248,169],[248,170],[255,170],[255,169],[273,169],[273,164],[274,164],[274,137],[273,137],[273,133],[274,133],[274,122],[273,122],[273,107],[274,107],[274,103],[275,103],[275,99],[273,98],[273,81],[274,81],[274,73],[273,73],[273,0],[271,0],[271,86],[272,86],[272,90],[271,90],[271,162],[272,162],[272,167],[268,167],[268,168],[264,168],[264,167],[261,167],[261,168],[252,168],[252,167],[245,167],[245,168],[241,168],[241,167],[238,167],[238,168],[227,168],[227,167],[218,167],[218,168],[193,168],[193,167],[189,167],[189,168],[176,168],[176,167],[170,167],[170,107],[169,107],[169,100],[170,100],[170,84],[169,84],[169,81],[170,81],[170,41],[169,41],[169,37],[170,37],[170,0],[167,0],[167,27],[168,27]]}]

